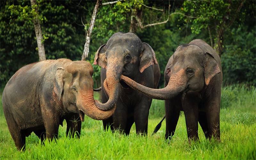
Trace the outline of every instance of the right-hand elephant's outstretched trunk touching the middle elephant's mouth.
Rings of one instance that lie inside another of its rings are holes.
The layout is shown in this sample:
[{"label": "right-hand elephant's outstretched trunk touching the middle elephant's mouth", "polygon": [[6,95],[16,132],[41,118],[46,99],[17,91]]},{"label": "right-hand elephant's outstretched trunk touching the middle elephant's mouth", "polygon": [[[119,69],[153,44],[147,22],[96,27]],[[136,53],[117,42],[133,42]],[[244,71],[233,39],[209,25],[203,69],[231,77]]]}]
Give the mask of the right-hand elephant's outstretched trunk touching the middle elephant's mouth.
[{"label": "right-hand elephant's outstretched trunk touching the middle elephant's mouth", "polygon": [[168,100],[172,97],[177,96],[180,92],[186,89],[186,79],[182,78],[184,77],[184,72],[185,70],[182,69],[175,74],[172,74],[169,83],[166,85],[166,87],[162,89],[148,88],[146,86],[138,84],[137,82],[124,75],[121,76],[121,79],[133,89],[142,92],[150,98],[158,100]]}]

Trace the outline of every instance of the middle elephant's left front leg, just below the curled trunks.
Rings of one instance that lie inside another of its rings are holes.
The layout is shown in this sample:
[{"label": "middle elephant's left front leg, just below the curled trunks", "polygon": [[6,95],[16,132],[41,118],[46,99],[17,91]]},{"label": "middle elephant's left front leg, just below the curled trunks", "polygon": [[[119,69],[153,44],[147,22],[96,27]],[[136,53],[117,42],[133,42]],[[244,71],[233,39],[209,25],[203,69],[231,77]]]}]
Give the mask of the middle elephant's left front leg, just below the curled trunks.
[{"label": "middle elephant's left front leg, just below the curled trunks", "polygon": [[118,100],[116,103],[116,111],[113,114],[113,129],[111,128],[112,131],[119,130],[120,132],[125,133],[127,114],[127,106],[125,106],[121,100]]}]

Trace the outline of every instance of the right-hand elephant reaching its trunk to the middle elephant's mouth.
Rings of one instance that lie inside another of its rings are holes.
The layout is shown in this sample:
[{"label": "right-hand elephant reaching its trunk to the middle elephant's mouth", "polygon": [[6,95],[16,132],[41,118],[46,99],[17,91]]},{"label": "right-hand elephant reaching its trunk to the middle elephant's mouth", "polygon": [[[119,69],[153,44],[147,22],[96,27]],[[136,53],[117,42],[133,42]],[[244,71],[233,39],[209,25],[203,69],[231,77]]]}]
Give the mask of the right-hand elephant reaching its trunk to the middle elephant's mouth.
[{"label": "right-hand elephant reaching its trunk to the middle elephant's mouth", "polygon": [[220,140],[221,62],[203,40],[177,47],[164,70],[162,89],[148,88],[123,75],[121,79],[150,98],[165,100],[165,139],[172,138],[180,111],[184,111],[189,142],[199,140],[198,122],[206,139]]}]

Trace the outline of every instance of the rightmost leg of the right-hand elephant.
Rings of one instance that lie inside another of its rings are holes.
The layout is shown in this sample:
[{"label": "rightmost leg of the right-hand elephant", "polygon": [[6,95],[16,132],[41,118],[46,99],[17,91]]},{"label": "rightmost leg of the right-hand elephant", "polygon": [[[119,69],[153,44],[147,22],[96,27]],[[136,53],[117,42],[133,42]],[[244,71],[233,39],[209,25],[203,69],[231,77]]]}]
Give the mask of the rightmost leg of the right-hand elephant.
[{"label": "rightmost leg of the right-hand elephant", "polygon": [[219,99],[211,99],[206,104],[206,117],[209,128],[209,138],[212,136],[220,140],[220,102]]}]

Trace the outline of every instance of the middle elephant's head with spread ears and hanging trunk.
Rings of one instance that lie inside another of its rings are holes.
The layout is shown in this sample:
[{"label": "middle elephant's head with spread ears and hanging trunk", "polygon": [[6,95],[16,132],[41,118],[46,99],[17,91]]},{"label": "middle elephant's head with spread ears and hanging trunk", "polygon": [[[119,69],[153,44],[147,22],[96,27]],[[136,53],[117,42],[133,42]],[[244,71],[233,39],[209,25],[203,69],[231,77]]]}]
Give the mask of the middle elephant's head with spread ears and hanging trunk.
[{"label": "middle elephant's head with spread ears and hanging trunk", "polygon": [[122,74],[133,78],[157,61],[151,46],[142,43],[138,36],[118,32],[109,38],[107,44],[100,46],[95,54],[96,64],[106,69],[104,88],[108,88],[109,99],[103,105],[108,105],[117,101]]}]

